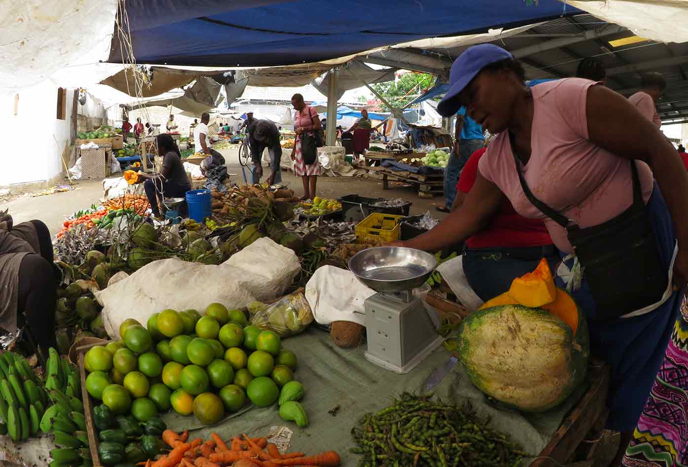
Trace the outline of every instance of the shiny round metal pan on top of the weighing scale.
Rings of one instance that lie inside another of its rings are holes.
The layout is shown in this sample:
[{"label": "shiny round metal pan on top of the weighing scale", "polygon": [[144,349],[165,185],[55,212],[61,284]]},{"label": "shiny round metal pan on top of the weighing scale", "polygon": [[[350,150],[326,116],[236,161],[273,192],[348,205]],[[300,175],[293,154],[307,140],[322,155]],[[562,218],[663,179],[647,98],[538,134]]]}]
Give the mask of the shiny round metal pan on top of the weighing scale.
[{"label": "shiny round metal pan on top of the weighing scale", "polygon": [[396,246],[368,248],[349,260],[349,269],[356,278],[376,292],[420,287],[436,267],[432,254]]}]

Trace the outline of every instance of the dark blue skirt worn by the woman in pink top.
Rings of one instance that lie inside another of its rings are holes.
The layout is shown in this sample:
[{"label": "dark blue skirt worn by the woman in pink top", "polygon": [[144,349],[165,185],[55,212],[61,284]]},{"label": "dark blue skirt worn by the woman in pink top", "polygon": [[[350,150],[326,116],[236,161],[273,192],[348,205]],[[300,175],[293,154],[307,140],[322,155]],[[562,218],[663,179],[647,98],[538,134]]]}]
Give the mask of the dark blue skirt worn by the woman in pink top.
[{"label": "dark blue skirt worn by the woman in pink top", "polygon": [[[660,260],[668,271],[676,236],[669,210],[656,182],[647,202],[647,212],[652,221]],[[570,268],[572,261],[567,261],[567,265]],[[559,278],[557,285],[565,286]],[[595,321],[596,305],[585,282],[585,274],[580,290],[572,295],[588,316],[591,353],[612,367],[607,402],[610,413],[606,427],[616,431],[633,431],[662,364],[682,294],[675,292],[661,307],[647,314],[612,321]]]}]

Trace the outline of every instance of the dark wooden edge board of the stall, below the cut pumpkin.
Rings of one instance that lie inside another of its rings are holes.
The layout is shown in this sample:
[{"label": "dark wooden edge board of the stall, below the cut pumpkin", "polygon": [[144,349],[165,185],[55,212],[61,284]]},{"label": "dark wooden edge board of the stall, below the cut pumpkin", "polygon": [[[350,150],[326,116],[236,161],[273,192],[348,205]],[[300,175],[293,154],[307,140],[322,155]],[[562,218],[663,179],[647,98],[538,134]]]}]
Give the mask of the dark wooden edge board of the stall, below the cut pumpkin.
[{"label": "dark wooden edge board of the stall, below the cut pumpkin", "polygon": [[585,433],[590,431],[605,410],[610,373],[609,365],[599,360],[590,363],[585,378],[590,382],[588,391],[566,416],[539,456],[530,463],[530,467],[561,467],[566,463],[585,438]]}]

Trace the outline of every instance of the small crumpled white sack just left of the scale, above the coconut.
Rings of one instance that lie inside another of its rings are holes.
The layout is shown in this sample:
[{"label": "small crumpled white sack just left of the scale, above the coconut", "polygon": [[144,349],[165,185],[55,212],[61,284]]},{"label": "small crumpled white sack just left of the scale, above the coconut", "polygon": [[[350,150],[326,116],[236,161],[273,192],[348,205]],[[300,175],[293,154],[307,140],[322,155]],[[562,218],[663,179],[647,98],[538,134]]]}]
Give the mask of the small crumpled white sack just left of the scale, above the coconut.
[{"label": "small crumpled white sack just left of the scale, above the coconut", "polygon": [[305,298],[315,321],[329,325],[333,321],[352,321],[365,326],[365,299],[376,294],[363,285],[351,271],[336,266],[318,268],[305,285]]}]

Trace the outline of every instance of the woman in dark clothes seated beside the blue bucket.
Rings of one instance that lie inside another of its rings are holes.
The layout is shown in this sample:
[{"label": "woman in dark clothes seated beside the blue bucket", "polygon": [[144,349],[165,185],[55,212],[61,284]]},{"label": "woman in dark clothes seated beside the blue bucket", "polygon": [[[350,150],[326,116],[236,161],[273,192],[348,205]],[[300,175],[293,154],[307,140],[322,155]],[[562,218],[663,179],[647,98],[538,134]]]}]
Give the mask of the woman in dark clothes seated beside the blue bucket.
[{"label": "woman in dark clothes seated beside the blue bucket", "polygon": [[189,177],[184,170],[182,153],[180,153],[179,147],[171,135],[158,135],[155,141],[158,143],[158,154],[163,155],[162,169],[160,169],[160,173],[153,175],[139,173],[136,183],[143,182],[143,188],[146,191],[148,202],[151,204],[153,216],[160,218],[158,195],[160,195],[160,199],[183,198],[186,196],[186,192],[191,190],[191,182],[189,182]]}]

